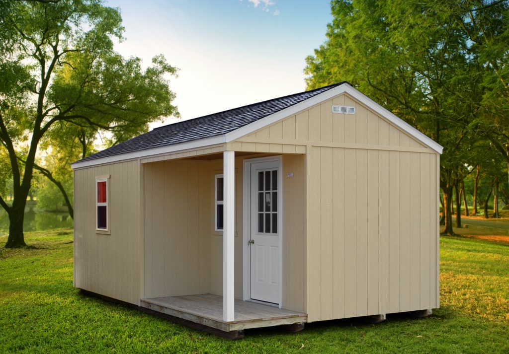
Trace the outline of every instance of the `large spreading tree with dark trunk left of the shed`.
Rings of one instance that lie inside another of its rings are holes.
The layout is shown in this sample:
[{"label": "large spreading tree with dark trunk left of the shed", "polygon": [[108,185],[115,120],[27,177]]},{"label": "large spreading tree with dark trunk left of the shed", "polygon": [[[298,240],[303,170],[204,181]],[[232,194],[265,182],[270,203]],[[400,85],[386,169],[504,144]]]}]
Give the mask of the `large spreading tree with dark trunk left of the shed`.
[{"label": "large spreading tree with dark trunk left of the shed", "polygon": [[0,205],[6,247],[20,247],[40,144],[67,125],[122,138],[178,114],[167,79],[176,69],[162,55],[143,70],[139,58],[116,53],[121,16],[100,0],[1,2],[0,14],[0,149],[14,193],[12,205],[0,194]]}]

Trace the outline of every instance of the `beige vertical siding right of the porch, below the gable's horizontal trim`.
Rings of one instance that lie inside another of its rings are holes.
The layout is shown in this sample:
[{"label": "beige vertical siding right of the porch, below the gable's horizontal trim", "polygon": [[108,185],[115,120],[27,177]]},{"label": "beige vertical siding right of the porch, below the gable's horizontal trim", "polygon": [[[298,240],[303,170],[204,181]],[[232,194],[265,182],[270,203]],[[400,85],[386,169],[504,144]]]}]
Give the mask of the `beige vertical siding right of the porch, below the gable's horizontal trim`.
[{"label": "beige vertical siding right of the porch, below the gable's horizontal trim", "polygon": [[311,152],[309,321],[434,308],[436,155],[336,147]]}]

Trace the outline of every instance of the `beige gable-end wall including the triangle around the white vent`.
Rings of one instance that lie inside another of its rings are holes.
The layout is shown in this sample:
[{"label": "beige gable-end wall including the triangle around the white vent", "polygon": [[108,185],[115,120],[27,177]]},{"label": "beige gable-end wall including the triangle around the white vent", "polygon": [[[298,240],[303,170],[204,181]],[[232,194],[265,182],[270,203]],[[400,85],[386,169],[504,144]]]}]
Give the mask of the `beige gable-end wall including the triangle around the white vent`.
[{"label": "beige gable-end wall including the triangle around the white vent", "polygon": [[[356,114],[332,113],[333,104]],[[439,155],[432,149],[347,94],[227,149],[306,154],[306,210],[295,220],[306,231],[308,321],[439,306]]]}]

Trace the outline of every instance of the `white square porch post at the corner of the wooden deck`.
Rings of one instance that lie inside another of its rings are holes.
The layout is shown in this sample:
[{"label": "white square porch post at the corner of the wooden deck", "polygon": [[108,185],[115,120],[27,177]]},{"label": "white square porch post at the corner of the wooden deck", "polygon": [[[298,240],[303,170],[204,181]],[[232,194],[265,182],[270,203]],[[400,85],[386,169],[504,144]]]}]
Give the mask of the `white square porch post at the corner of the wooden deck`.
[{"label": "white square porch post at the corner of the wooden deck", "polygon": [[235,152],[223,152],[223,320],[234,315]]}]

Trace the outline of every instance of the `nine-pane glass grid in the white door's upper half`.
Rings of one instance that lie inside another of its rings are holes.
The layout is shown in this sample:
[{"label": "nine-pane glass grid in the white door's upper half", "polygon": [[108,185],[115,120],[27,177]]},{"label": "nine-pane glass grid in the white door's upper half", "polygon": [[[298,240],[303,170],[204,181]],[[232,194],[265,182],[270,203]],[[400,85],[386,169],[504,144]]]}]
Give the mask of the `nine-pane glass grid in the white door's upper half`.
[{"label": "nine-pane glass grid in the white door's upper half", "polygon": [[277,170],[258,172],[258,232],[277,233]]}]

